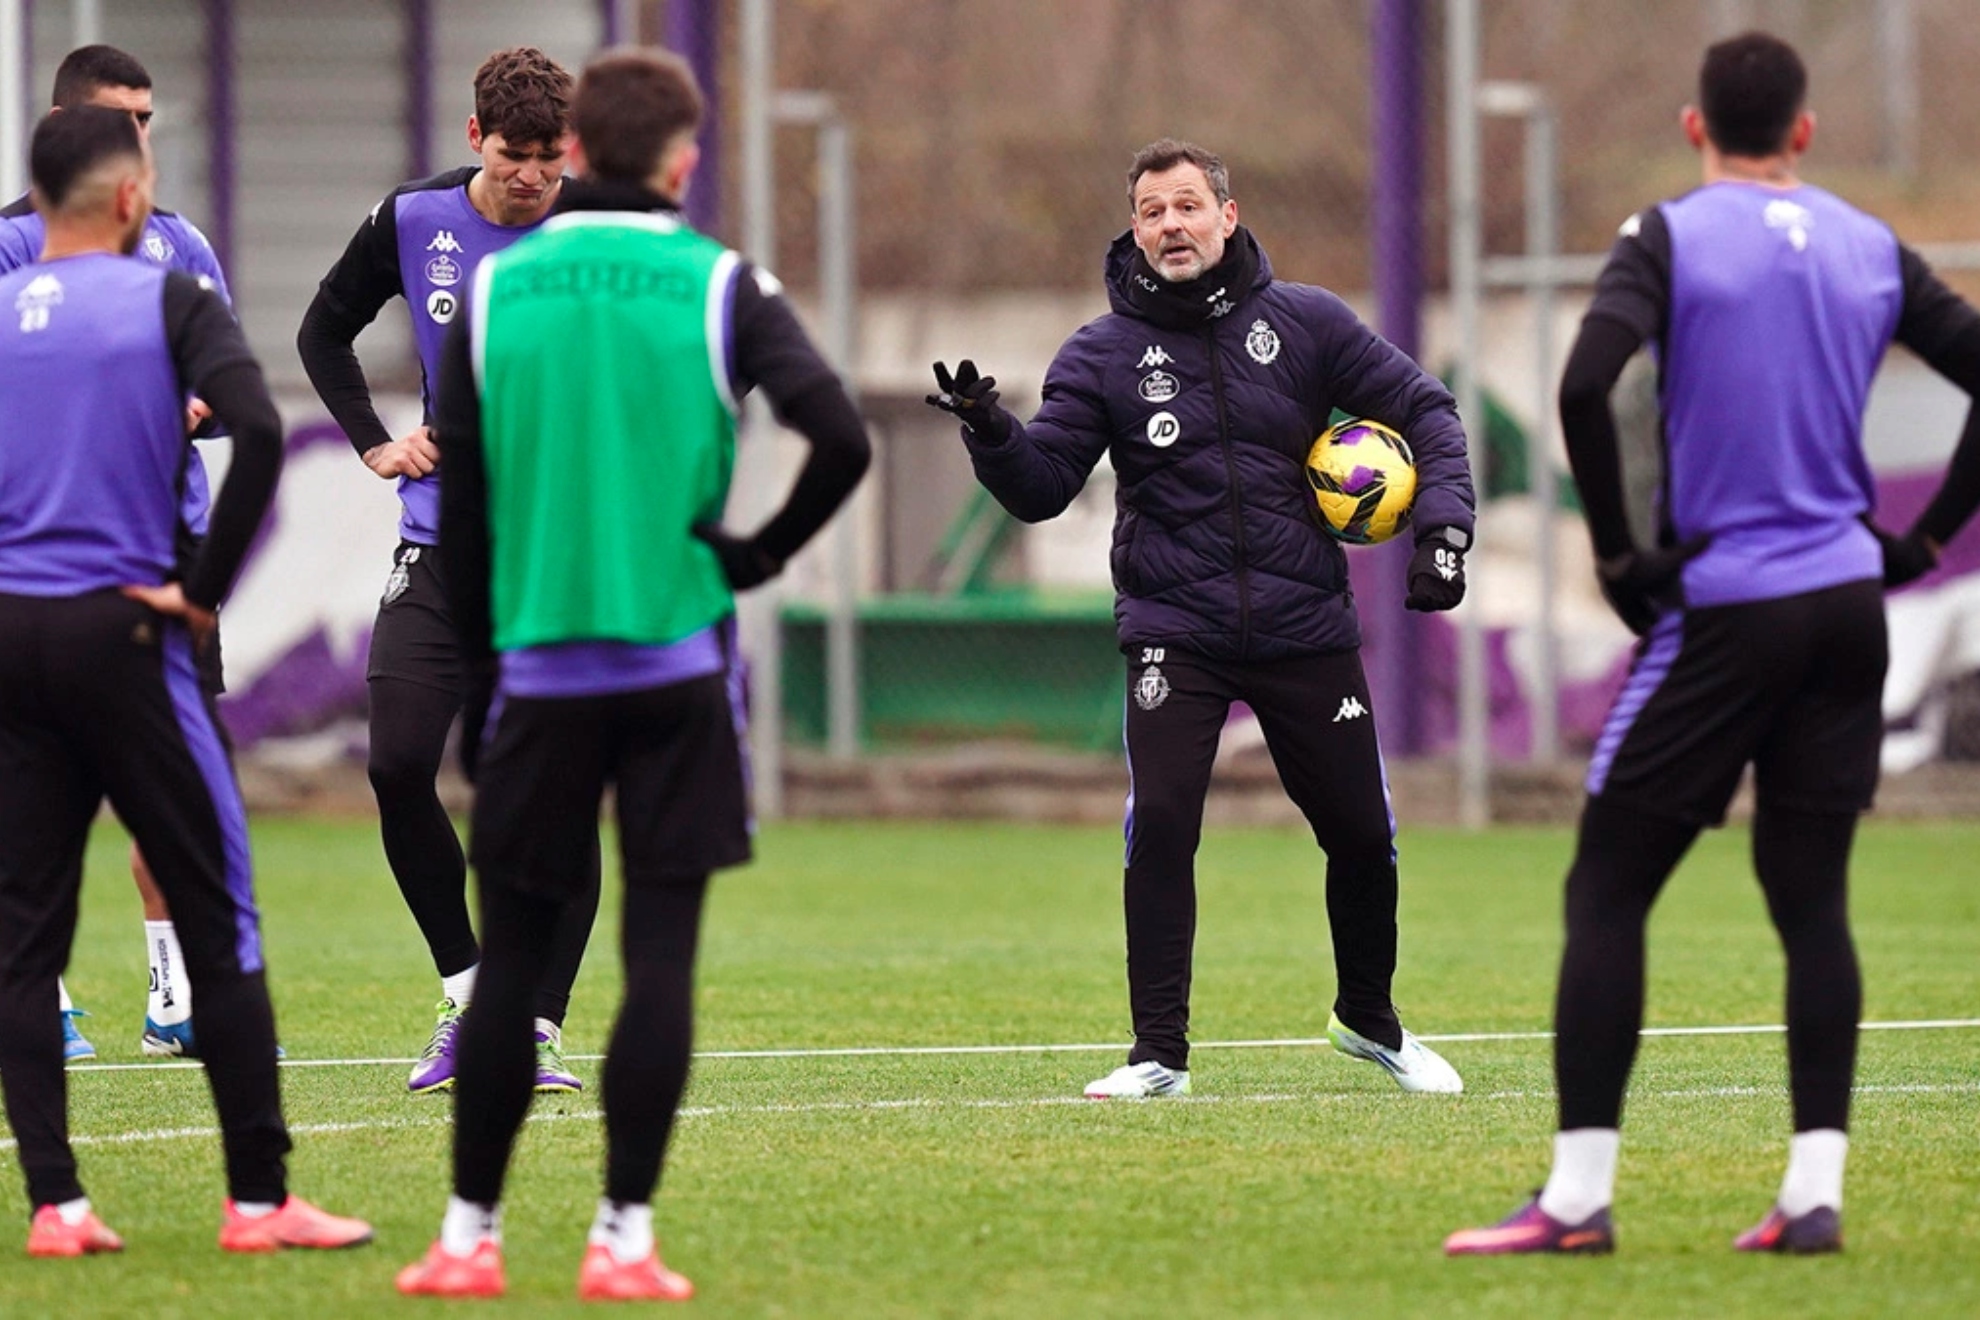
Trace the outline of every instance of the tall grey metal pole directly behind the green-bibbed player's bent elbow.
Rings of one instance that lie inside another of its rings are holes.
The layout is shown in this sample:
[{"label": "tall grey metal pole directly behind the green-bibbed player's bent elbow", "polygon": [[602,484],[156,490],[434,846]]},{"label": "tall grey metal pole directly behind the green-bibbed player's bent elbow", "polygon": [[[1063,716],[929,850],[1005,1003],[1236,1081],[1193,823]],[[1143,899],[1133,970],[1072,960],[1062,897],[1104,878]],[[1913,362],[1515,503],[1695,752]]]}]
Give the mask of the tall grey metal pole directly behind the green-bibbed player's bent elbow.
[{"label": "tall grey metal pole directly behind the green-bibbed player's bent elbow", "polygon": [[[742,251],[762,267],[776,257],[776,192],[770,137],[774,95],[772,28],[774,0],[742,4]],[[739,467],[750,473],[739,483],[741,517],[754,526],[762,495],[776,489],[776,429],[762,396],[752,396],[744,418],[744,453]],[[776,582],[768,582],[737,604],[742,649],[750,665],[750,766],[756,813],[776,819],[784,813],[784,635]]]}]

